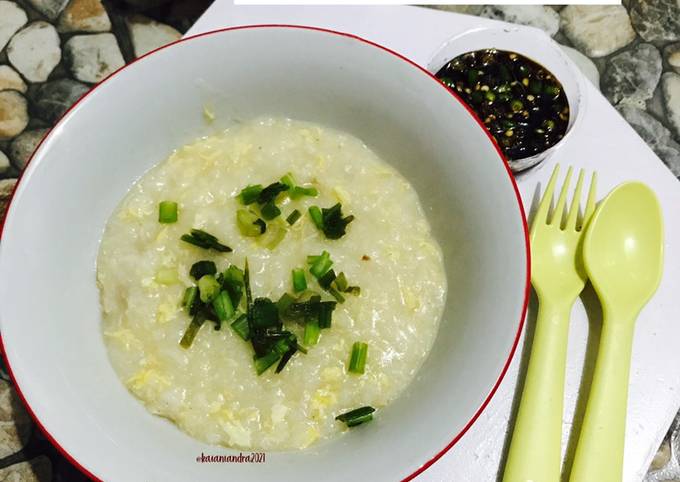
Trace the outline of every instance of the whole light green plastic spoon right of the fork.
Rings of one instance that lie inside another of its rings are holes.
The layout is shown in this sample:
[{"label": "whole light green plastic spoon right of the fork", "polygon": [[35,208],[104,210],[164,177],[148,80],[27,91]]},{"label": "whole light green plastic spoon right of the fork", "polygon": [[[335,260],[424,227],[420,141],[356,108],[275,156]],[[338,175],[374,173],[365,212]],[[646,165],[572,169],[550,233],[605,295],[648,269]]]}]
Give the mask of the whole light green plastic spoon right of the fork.
[{"label": "whole light green plastic spoon right of the fork", "polygon": [[663,216],[651,189],[624,183],[602,201],[587,228],[583,259],[603,321],[569,480],[621,482],[635,319],[663,270]]}]

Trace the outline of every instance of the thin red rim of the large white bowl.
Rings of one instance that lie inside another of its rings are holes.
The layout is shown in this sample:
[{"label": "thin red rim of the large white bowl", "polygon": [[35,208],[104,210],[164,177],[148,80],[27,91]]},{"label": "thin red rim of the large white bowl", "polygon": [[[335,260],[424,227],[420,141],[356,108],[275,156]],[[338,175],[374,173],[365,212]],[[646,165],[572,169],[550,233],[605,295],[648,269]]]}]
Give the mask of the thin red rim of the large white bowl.
[{"label": "thin red rim of the large white bowl", "polygon": [[[385,47],[385,46],[383,46],[379,43],[373,42],[371,40],[367,40],[367,39],[360,37],[358,35],[354,35],[354,34],[348,33],[348,32],[341,32],[341,31],[337,31],[337,30],[322,28],[322,27],[309,26],[309,25],[294,25],[294,24],[284,24],[284,23],[281,23],[281,24],[279,24],[279,23],[267,23],[267,24],[239,25],[239,26],[225,27],[225,28],[209,30],[207,32],[202,32],[202,33],[199,33],[199,34],[195,34],[195,35],[191,35],[191,36],[188,36],[188,37],[183,37],[183,38],[180,38],[178,40],[175,40],[174,42],[171,42],[169,44],[158,47],[154,50],[147,52],[146,54],[144,54],[140,57],[137,57],[136,59],[132,60],[130,63],[116,69],[113,73],[109,74],[107,77],[105,77],[104,79],[102,79],[98,83],[94,84],[92,86],[92,88],[90,90],[88,90],[85,94],[83,94],[71,107],[69,107],[69,109],[66,110],[66,112],[64,112],[59,117],[57,122],[55,122],[55,124],[45,133],[43,138],[40,140],[40,142],[36,145],[35,149],[31,153],[31,156],[29,157],[28,161],[26,162],[24,169],[19,173],[19,176],[17,177],[17,182],[14,185],[14,187],[13,187],[11,193],[10,193],[10,196],[8,198],[8,201],[7,201],[7,208],[6,208],[5,216],[4,216],[3,219],[0,220],[0,241],[2,240],[2,235],[3,235],[3,232],[4,232],[4,228],[5,228],[5,223],[7,222],[7,219],[12,214],[12,211],[13,211],[12,210],[12,202],[14,201],[15,194],[17,193],[19,185],[24,180],[24,176],[27,172],[29,173],[28,177],[30,177],[31,170],[29,169],[29,167],[31,165],[31,162],[35,158],[35,154],[40,150],[40,147],[43,145],[43,143],[53,133],[56,133],[55,135],[58,135],[58,132],[60,131],[60,129],[58,129],[58,127],[60,127],[60,125],[62,124],[64,119],[71,113],[71,111],[73,111],[81,102],[83,102],[97,88],[102,86],[104,83],[106,83],[112,77],[116,76],[123,69],[130,67],[134,63],[146,58],[149,55],[153,55],[156,52],[159,52],[159,51],[167,49],[167,48],[171,48],[175,45],[178,45],[178,44],[181,44],[181,43],[184,43],[184,42],[188,42],[188,41],[191,41],[191,40],[196,39],[196,38],[205,37],[205,36],[208,36],[208,35],[220,34],[220,33],[229,32],[229,31],[238,31],[238,30],[246,30],[246,29],[251,29],[251,30],[254,30],[254,29],[271,29],[271,28],[308,30],[308,31],[321,32],[321,33],[325,33],[325,34],[336,35],[336,36],[339,36],[339,37],[357,40],[357,41],[364,43],[366,45],[378,48],[378,49],[382,50],[383,52],[388,53],[388,54],[396,57],[398,60],[400,60],[402,62],[406,62],[407,64],[410,64],[412,67],[415,67],[416,69],[421,71],[423,74],[430,77],[434,82],[437,83],[437,85],[440,88],[445,89],[455,99],[455,101],[457,101],[458,103],[460,103],[463,106],[463,108],[468,112],[468,114],[470,114],[472,116],[473,120],[479,125],[480,129],[486,134],[487,138],[491,141],[493,147],[495,148],[496,152],[498,153],[498,156],[500,157],[500,160],[503,163],[503,166],[505,167],[506,173],[508,175],[508,178],[509,178],[510,183],[512,185],[513,191],[514,191],[515,196],[517,198],[517,207],[519,209],[520,219],[522,221],[522,231],[523,231],[523,234],[524,234],[524,245],[525,245],[525,254],[526,254],[526,260],[527,261],[526,261],[526,272],[525,272],[524,300],[522,302],[522,310],[521,310],[521,313],[520,313],[520,319],[518,321],[517,332],[516,332],[515,338],[512,342],[510,352],[508,353],[507,359],[506,359],[506,361],[503,365],[503,368],[501,369],[500,374],[498,375],[498,378],[496,379],[496,382],[494,383],[493,387],[489,391],[488,395],[484,398],[484,400],[481,403],[481,405],[479,406],[479,408],[472,415],[470,420],[463,426],[463,428],[458,433],[456,433],[453,436],[451,441],[445,447],[443,447],[439,452],[437,452],[436,454],[431,456],[429,459],[427,459],[421,466],[417,467],[411,474],[405,476],[402,479],[402,482],[407,482],[407,481],[414,479],[415,477],[417,477],[421,473],[423,473],[427,468],[429,468],[437,460],[439,460],[446,452],[448,452],[451,449],[451,447],[453,447],[463,437],[463,435],[465,435],[465,433],[477,421],[477,419],[482,414],[484,409],[491,402],[491,399],[493,398],[496,391],[498,390],[498,387],[500,386],[501,382],[505,378],[505,375],[507,374],[508,369],[510,367],[510,363],[512,362],[514,355],[517,351],[517,346],[519,344],[519,340],[521,338],[522,330],[524,328],[524,322],[525,322],[525,319],[526,319],[527,308],[529,306],[529,296],[530,296],[530,290],[531,290],[531,251],[530,251],[529,228],[528,228],[528,224],[527,224],[526,211],[524,209],[524,204],[523,204],[520,192],[519,192],[519,188],[517,186],[517,182],[515,181],[515,178],[512,174],[510,166],[508,164],[508,160],[505,157],[505,155],[503,154],[503,152],[501,151],[501,149],[500,149],[498,143],[496,142],[496,140],[494,139],[494,137],[489,133],[489,131],[487,131],[484,128],[484,124],[481,122],[481,120],[479,119],[477,114],[455,92],[448,89],[429,70],[427,70],[426,66],[425,67],[421,66],[421,65],[415,63],[414,61],[410,60],[406,56],[404,56],[404,55],[402,55],[402,54],[400,54],[400,53],[398,53],[398,52],[396,52],[396,51],[394,51],[394,50],[392,50],[388,47]],[[27,180],[25,182],[28,182],[28,177],[27,177]],[[0,256],[1,255],[2,255],[2,251],[0,250]],[[12,381],[12,384],[13,384],[13,386],[14,386],[14,388],[15,388],[18,396],[19,396],[19,399],[21,400],[24,408],[26,409],[26,411],[28,412],[30,417],[33,419],[33,421],[35,422],[37,427],[40,429],[40,431],[45,435],[45,437],[50,441],[50,443],[54,447],[56,447],[58,452],[64,458],[66,458],[73,466],[75,466],[78,470],[80,470],[80,472],[82,472],[85,476],[87,476],[88,478],[95,480],[95,481],[104,480],[104,479],[99,478],[95,474],[93,474],[84,465],[79,463],[78,460],[76,460],[71,454],[69,454],[66,451],[66,449],[64,449],[64,447],[61,446],[61,444],[56,439],[56,437],[54,435],[52,435],[50,432],[48,432],[47,429],[45,428],[45,426],[41,423],[40,419],[37,417],[37,415],[35,414],[35,412],[31,408],[30,404],[28,403],[28,400],[25,398],[24,394],[22,393],[21,387],[20,387],[19,383],[17,382],[17,380],[14,376],[11,364],[9,362],[9,359],[7,357],[7,353],[6,353],[6,350],[5,350],[5,344],[4,344],[2,333],[0,333],[0,352],[2,353],[2,359],[5,363],[5,366],[7,367],[8,375],[9,375],[9,377]],[[102,475],[102,476],[104,476],[104,475]]]}]

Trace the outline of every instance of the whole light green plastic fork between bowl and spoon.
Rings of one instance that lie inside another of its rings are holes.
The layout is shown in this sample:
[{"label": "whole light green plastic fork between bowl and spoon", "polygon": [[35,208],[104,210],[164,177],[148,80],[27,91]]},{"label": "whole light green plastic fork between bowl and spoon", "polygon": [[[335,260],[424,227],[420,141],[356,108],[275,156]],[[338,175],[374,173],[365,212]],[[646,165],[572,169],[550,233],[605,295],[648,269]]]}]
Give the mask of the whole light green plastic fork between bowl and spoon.
[{"label": "whole light green plastic fork between bowl and spoon", "polygon": [[595,209],[593,173],[583,220],[578,223],[584,172],[568,214],[563,215],[572,168],[549,216],[559,165],[555,166],[531,224],[531,284],[538,297],[536,331],[522,399],[505,465],[504,482],[558,482],[562,442],[564,373],[569,317],[587,275],[581,256],[584,227]]}]

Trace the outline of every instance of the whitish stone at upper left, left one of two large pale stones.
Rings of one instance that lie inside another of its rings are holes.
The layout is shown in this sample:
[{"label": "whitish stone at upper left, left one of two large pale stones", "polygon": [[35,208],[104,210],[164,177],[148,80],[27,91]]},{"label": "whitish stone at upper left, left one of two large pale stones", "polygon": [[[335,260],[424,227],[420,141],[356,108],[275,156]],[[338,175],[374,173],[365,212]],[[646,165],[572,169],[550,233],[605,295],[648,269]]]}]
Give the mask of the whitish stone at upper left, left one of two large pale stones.
[{"label": "whitish stone at upper left, left one of two large pale stones", "polygon": [[47,22],[29,24],[10,40],[7,58],[30,82],[45,82],[61,60],[57,29]]}]

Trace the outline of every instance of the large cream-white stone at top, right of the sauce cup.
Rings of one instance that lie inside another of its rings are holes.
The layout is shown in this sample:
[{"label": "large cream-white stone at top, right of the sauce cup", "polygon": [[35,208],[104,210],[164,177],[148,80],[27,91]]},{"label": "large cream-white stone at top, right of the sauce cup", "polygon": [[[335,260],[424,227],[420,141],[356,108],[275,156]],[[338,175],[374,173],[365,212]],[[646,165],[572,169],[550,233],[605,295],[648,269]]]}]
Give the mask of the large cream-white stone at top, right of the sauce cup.
[{"label": "large cream-white stone at top, right of the sauce cup", "polygon": [[588,57],[604,57],[635,40],[621,5],[569,5],[560,12],[562,31]]}]

